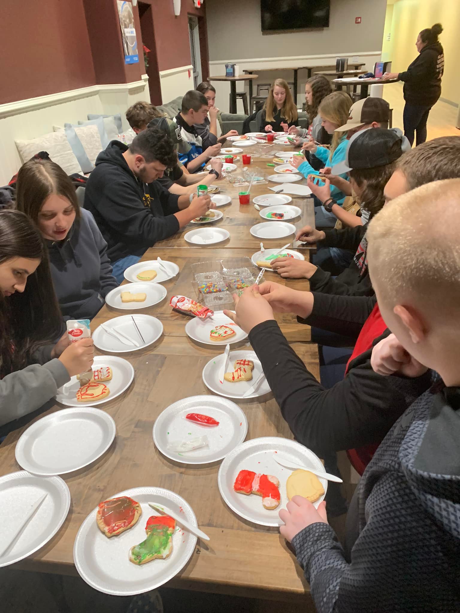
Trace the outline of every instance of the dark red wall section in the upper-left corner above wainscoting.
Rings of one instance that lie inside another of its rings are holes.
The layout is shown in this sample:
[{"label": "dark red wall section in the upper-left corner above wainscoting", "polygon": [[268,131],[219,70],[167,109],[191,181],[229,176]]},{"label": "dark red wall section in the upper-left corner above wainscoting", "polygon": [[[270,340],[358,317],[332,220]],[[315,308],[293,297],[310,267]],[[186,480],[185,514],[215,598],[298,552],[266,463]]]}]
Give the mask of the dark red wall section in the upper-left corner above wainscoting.
[{"label": "dark red wall section in the upper-left corner above wainscoting", "polygon": [[95,85],[83,0],[2,0],[0,23],[0,104]]}]

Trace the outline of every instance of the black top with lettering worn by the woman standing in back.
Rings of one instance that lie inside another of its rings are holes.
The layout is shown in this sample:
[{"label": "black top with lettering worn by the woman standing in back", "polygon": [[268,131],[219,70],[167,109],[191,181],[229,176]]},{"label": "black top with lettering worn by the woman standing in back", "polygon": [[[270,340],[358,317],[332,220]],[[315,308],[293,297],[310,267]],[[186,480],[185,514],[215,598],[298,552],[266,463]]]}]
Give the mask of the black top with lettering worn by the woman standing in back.
[{"label": "black top with lettering worn by the woman standing in back", "polygon": [[432,107],[441,95],[444,51],[440,42],[423,47],[412,64],[398,78],[404,81],[404,100],[416,106]]}]

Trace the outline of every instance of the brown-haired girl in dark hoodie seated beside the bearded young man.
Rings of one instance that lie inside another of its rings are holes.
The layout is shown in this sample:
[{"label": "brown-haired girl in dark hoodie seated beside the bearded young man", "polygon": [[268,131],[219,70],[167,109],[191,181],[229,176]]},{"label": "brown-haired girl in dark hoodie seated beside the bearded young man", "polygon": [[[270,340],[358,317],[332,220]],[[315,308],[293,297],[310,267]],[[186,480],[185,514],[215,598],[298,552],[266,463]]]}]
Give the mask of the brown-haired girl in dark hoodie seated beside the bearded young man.
[{"label": "brown-haired girl in dark hoodie seated beside the bearded young man", "polygon": [[64,321],[92,319],[118,283],[107,243],[90,211],[80,209],[72,181],[54,162],[32,159],[18,173],[17,208],[45,238]]}]

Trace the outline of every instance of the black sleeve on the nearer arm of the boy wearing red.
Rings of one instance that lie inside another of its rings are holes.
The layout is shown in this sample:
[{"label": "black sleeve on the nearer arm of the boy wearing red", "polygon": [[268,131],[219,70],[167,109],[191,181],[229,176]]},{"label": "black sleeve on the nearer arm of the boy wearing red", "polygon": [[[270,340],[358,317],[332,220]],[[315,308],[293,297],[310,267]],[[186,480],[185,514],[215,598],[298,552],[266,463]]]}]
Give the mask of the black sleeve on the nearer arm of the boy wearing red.
[{"label": "black sleeve on the nearer arm of the boy wearing red", "polygon": [[[388,335],[387,329],[374,345]],[[343,381],[324,389],[289,346],[276,321],[255,326],[249,341],[291,432],[320,457],[379,443],[432,383],[431,371],[415,379],[377,375],[369,350],[350,363]]]}]

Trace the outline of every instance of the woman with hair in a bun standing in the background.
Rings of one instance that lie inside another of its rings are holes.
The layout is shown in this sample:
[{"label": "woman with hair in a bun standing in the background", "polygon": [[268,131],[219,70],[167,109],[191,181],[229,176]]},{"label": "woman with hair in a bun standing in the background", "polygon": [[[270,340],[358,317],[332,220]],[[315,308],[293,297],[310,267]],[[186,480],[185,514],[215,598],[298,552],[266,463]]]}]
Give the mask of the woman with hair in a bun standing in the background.
[{"label": "woman with hair in a bun standing in the background", "polygon": [[385,80],[397,78],[404,81],[404,135],[410,144],[417,133],[416,145],[426,141],[426,122],[431,107],[441,95],[441,78],[444,72],[444,50],[438,40],[442,25],[435,23],[425,28],[417,37],[415,46],[420,55],[404,72],[386,72]]}]

